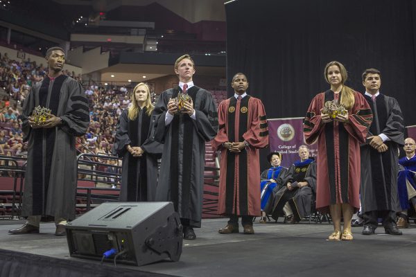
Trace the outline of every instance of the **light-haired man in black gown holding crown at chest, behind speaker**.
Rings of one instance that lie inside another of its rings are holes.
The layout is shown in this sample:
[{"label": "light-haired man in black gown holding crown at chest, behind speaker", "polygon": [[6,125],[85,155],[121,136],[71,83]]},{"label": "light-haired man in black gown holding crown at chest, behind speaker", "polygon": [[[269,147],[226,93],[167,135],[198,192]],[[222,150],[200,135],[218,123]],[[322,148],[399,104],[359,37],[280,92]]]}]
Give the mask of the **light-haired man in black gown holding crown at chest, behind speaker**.
[{"label": "light-haired man in black gown holding crown at chest, behind speaker", "polygon": [[[205,142],[216,136],[218,114],[211,93],[193,84],[195,64],[189,55],[175,62],[179,87],[159,96],[155,115],[155,140],[164,143],[156,201],[171,201],[184,226],[184,239],[196,238],[200,228],[205,167]],[[173,98],[187,93],[191,102],[179,111]]]}]

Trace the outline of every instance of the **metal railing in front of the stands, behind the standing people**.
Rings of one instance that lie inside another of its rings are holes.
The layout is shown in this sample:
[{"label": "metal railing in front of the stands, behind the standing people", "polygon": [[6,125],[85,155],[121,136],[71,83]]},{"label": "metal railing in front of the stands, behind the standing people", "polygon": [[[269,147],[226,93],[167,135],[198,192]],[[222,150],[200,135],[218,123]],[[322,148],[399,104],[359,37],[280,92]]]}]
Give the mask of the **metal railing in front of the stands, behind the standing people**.
[{"label": "metal railing in front of the stands, behind the standing people", "polygon": [[[2,217],[18,217],[21,214],[21,199],[24,191],[26,158],[0,156],[0,209],[5,211]],[[76,212],[89,211],[102,202],[119,201],[121,186],[121,159],[102,154],[79,154],[77,157],[78,186]],[[110,169],[111,168],[111,169]],[[109,170],[110,169],[110,170]],[[218,205],[218,168],[205,167],[211,174],[204,176],[204,199],[202,213],[217,215]],[[6,213],[10,211],[10,213]]]}]

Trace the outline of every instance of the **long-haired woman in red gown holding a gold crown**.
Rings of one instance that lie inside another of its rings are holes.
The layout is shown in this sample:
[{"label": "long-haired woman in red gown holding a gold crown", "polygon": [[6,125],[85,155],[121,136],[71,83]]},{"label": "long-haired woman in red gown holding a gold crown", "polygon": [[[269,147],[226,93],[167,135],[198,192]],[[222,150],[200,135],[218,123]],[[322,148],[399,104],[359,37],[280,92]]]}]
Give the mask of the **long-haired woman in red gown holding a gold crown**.
[{"label": "long-haired woman in red gown holding a gold crown", "polygon": [[[329,208],[334,229],[329,240],[352,240],[352,215],[360,207],[360,143],[365,142],[372,111],[361,93],[344,85],[347,70],[343,64],[329,62],[324,76],[331,89],[313,98],[304,120],[306,143],[318,139],[316,208],[324,213]],[[322,113],[324,103],[333,100],[347,109],[345,115],[331,118]]]}]

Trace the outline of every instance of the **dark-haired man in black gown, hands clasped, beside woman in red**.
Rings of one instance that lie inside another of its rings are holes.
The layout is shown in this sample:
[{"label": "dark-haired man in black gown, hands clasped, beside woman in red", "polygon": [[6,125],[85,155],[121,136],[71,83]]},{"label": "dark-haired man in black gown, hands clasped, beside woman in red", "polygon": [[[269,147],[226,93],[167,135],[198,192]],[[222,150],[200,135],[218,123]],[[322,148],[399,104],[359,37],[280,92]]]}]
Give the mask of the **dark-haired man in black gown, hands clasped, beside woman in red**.
[{"label": "dark-haired man in black gown, hands clasped, beside woman in red", "polygon": [[401,235],[396,213],[401,210],[397,194],[397,150],[404,145],[404,120],[395,98],[379,92],[381,73],[363,73],[364,97],[373,113],[367,142],[361,145],[361,210],[363,235],[371,235],[383,219],[385,233]]}]

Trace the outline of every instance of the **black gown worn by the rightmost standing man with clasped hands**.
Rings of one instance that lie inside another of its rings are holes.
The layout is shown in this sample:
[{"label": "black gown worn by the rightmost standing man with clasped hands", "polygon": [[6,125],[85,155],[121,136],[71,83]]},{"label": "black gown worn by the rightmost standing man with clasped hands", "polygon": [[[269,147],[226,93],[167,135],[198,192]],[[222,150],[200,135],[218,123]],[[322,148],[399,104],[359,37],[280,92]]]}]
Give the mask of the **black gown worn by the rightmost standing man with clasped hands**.
[{"label": "black gown worn by the rightmost standing man with clasped hands", "polygon": [[388,150],[379,153],[370,144],[361,145],[361,210],[401,211],[397,195],[397,149],[404,145],[404,120],[395,98],[379,94],[376,102],[364,96],[373,112],[367,136],[388,136]]}]

